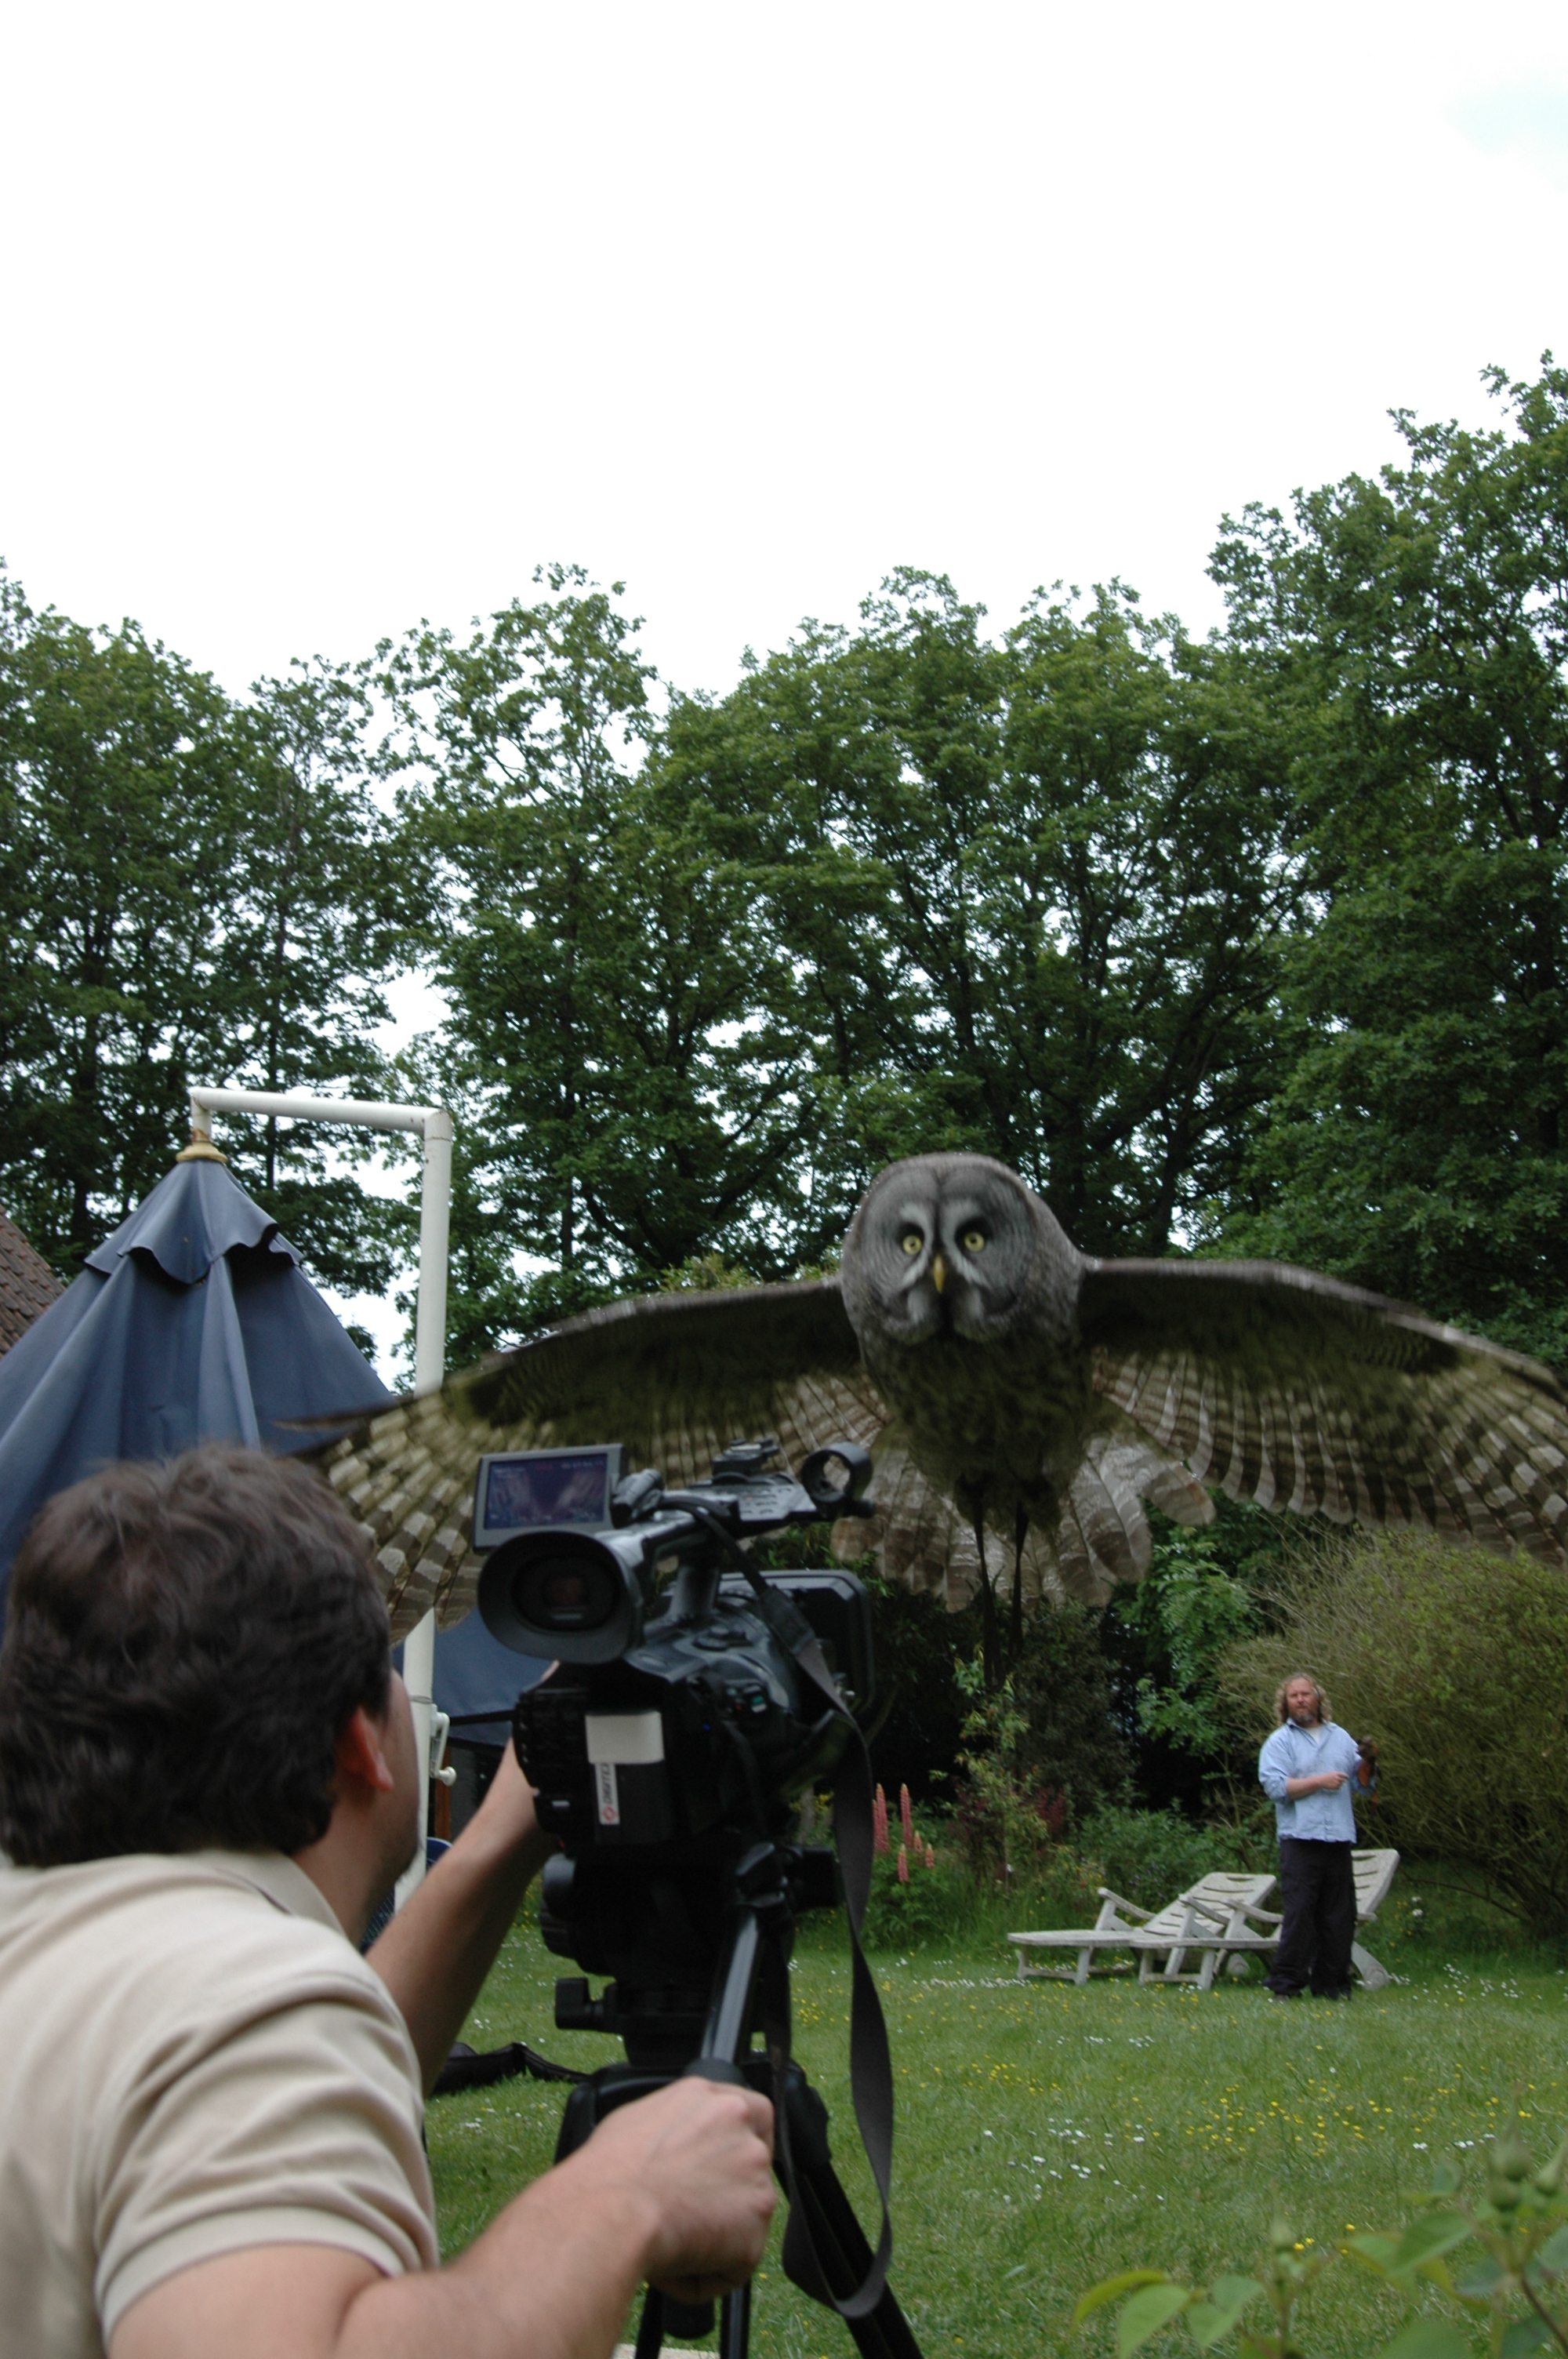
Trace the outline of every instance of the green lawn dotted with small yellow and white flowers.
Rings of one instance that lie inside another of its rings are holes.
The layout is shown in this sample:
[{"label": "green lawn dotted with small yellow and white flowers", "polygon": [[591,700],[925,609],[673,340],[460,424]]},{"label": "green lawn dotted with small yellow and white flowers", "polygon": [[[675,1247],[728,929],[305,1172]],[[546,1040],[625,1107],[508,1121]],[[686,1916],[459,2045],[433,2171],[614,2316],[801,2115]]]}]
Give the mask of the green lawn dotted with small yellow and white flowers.
[{"label": "green lawn dotted with small yellow and white flowers", "polygon": [[[1549,1967],[1422,1960],[1410,1982],[1349,2008],[1278,2008],[1257,1982],[1205,1996],[1120,1979],[1021,1986],[1009,1958],[997,1944],[877,1960],[898,2090],[894,2284],[929,2354],[1103,2359],[1108,2321],[1073,2335],[1066,2319],[1113,2269],[1155,2262],[1203,2279],[1250,2260],[1271,2189],[1304,2239],[1389,2225],[1431,2156],[1464,2161],[1514,2090],[1537,2116],[1526,2128],[1537,2151],[1568,2121],[1568,1974]],[[556,1965],[521,1925],[467,2038],[611,2062],[608,2041],[552,2029]],[[835,2156],[870,2225],[846,2015],[842,1937],[809,1930],[795,1958],[797,2055],[828,2097]],[[549,2163],[559,2114],[561,2090],[538,2081],[431,2104],[448,2250]],[[1332,2272],[1302,2312],[1306,2347],[1325,2359],[1377,2350],[1398,2312],[1370,2305],[1349,2267]],[[854,2352],[780,2274],[778,2236],[752,2347],[766,2359]]]}]

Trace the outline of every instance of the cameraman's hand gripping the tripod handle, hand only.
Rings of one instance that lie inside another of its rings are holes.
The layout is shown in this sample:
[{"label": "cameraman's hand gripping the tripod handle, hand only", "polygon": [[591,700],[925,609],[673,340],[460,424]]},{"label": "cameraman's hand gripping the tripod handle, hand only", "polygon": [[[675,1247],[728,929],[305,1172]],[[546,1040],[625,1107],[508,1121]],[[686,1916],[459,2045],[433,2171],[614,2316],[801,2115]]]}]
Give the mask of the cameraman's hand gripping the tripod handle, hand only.
[{"label": "cameraman's hand gripping the tripod handle, hand only", "polygon": [[684,2302],[743,2286],[773,2217],[773,2107],[726,2081],[672,2081],[622,2104],[582,2158],[655,2199],[644,2276]]}]

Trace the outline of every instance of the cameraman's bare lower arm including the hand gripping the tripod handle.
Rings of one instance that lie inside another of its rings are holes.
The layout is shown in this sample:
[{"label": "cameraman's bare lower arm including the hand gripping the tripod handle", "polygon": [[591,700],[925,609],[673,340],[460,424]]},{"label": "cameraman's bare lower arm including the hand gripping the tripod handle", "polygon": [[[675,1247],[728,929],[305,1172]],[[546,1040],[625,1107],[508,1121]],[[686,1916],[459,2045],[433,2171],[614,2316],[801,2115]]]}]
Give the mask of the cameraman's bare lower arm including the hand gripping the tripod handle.
[{"label": "cameraman's bare lower arm including the hand gripping the tripod handle", "polygon": [[773,2213],[773,2109],[677,2081],[625,2104],[446,2269],[382,2276],[335,2246],[252,2246],[167,2276],[108,2359],[608,2359],[641,2279],[743,2284]]}]

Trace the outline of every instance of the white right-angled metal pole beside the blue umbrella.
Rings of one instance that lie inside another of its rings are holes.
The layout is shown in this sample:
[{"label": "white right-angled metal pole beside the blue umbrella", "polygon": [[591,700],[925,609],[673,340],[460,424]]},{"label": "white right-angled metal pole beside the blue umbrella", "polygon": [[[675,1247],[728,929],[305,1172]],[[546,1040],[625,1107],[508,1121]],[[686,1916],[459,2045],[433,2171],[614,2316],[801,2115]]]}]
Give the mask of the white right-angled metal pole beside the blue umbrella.
[{"label": "white right-angled metal pole beside the blue umbrella", "polygon": [[[351,1123],[358,1130],[413,1130],[424,1139],[420,1184],[420,1293],[415,1309],[413,1380],[434,1392],[446,1373],[446,1264],[453,1210],[453,1118],[446,1106],[382,1106],[356,1097],[278,1097],[271,1090],[191,1090],[191,1139],[212,1142],[215,1113],[283,1113],[295,1123]],[[413,1703],[420,1755],[420,1847],[403,1880],[398,1906],[424,1875],[429,1819],[429,1715],[436,1675],[436,1616],[427,1614],[403,1640],[403,1684]]]}]

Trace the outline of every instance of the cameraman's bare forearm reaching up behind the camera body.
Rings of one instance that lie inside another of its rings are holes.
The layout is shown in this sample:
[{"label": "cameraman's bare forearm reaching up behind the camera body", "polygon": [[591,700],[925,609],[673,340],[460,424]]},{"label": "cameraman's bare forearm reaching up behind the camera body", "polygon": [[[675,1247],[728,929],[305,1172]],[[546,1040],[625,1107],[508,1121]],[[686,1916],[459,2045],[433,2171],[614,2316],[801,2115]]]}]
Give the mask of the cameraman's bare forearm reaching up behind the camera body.
[{"label": "cameraman's bare forearm reaching up behind the camera body", "polygon": [[368,1951],[408,2024],[427,2095],[549,1849],[507,1746],[483,1805]]}]

